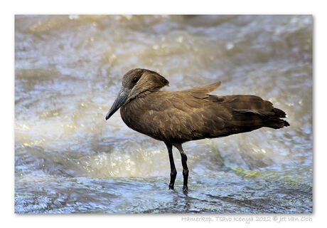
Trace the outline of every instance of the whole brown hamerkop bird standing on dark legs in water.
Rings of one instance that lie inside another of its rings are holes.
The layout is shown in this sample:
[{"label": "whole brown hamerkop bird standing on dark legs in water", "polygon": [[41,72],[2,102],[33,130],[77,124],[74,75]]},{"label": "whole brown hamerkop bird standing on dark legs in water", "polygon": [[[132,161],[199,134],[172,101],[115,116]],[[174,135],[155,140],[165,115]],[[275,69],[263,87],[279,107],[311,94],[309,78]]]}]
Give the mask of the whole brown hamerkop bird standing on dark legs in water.
[{"label": "whole brown hamerkop bird standing on dark legs in water", "polygon": [[168,81],[154,71],[133,69],[122,79],[122,88],[106,120],[120,108],[129,128],[165,142],[171,165],[169,189],[173,189],[176,167],[173,146],[181,152],[183,190],[188,190],[188,165],[182,143],[219,138],[262,127],[289,126],[284,111],[256,95],[209,95],[220,81],[188,90],[161,91]]}]

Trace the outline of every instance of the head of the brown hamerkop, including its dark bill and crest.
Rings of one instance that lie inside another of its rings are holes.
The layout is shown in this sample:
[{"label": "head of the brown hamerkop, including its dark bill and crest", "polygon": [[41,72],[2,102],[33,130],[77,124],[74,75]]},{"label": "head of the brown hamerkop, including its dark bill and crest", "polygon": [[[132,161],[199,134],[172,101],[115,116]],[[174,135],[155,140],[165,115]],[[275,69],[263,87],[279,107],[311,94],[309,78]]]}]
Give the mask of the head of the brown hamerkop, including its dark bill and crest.
[{"label": "head of the brown hamerkop, including its dark bill and crest", "polygon": [[109,119],[122,105],[137,98],[146,92],[154,92],[168,86],[169,82],[166,78],[154,71],[136,68],[125,73],[122,79],[122,88],[120,88],[116,100],[112,108],[106,115]]}]

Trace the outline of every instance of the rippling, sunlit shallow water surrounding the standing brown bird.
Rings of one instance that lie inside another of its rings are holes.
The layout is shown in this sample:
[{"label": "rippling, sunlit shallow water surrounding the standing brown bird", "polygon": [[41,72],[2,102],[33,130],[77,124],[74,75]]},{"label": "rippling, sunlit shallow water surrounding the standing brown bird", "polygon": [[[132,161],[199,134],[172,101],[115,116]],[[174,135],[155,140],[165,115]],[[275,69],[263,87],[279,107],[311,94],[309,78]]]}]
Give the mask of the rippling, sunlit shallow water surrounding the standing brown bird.
[{"label": "rippling, sunlit shallow water surrounding the standing brown bird", "polygon": [[[16,16],[16,213],[310,213],[311,16]],[[183,145],[168,190],[163,142],[104,120],[131,68],[166,90],[222,81],[255,94],[289,128]]]}]

